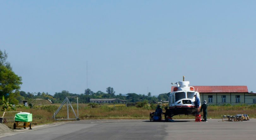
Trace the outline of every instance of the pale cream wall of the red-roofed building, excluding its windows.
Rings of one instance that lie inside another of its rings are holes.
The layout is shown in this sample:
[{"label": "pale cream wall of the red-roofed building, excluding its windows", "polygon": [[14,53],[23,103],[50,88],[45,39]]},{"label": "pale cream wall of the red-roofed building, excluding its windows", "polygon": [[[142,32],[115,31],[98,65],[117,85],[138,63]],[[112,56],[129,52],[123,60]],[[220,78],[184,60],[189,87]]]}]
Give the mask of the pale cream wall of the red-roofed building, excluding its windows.
[{"label": "pale cream wall of the red-roofed building, excluding its windows", "polygon": [[[212,103],[209,103],[208,100],[208,95],[212,95]],[[226,102],[222,102],[222,95],[226,95]],[[236,103],[235,96],[240,95],[240,102]],[[250,94],[250,93],[200,93],[200,101],[201,104],[203,103],[204,100],[207,101],[209,105],[211,104],[231,104],[231,105],[236,105],[236,104],[253,104],[253,99],[256,99],[256,94]]]}]

